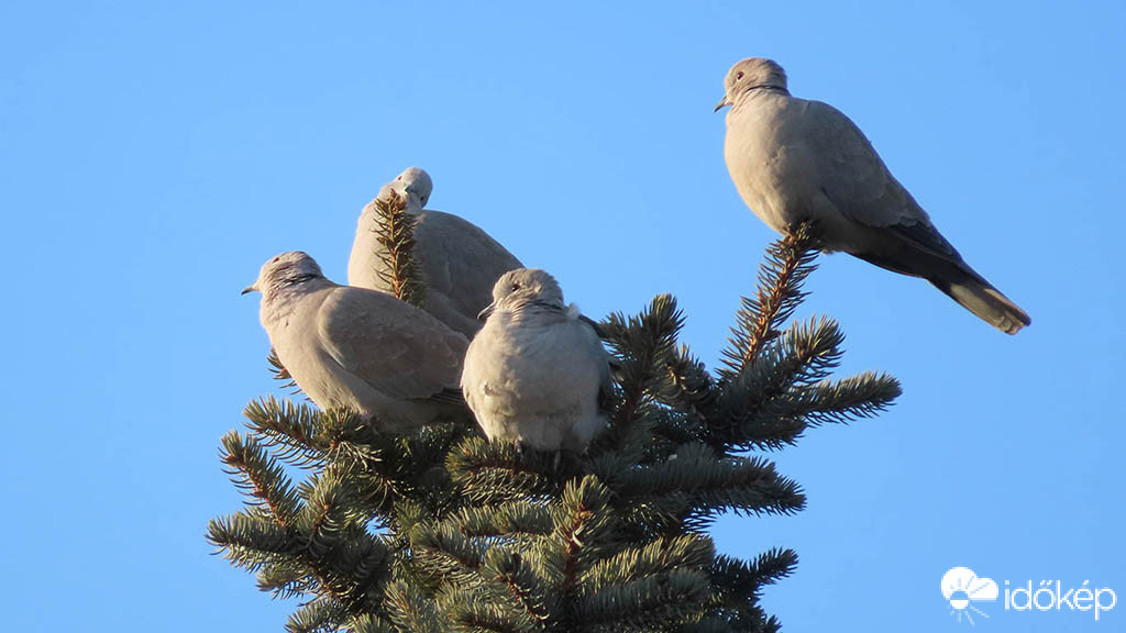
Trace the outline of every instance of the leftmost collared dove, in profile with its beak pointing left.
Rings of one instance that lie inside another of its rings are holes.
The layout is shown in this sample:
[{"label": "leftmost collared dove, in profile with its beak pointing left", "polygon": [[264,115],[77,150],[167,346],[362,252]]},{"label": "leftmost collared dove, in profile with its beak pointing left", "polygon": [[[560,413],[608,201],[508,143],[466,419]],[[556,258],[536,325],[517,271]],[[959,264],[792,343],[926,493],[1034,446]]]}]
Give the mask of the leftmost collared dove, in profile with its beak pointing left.
[{"label": "leftmost collared dove, in profile with its beak pointing left", "polygon": [[322,410],[348,408],[387,431],[467,416],[457,387],[468,341],[430,314],[333,284],[301,251],[267,261],[251,291],[278,358]]}]

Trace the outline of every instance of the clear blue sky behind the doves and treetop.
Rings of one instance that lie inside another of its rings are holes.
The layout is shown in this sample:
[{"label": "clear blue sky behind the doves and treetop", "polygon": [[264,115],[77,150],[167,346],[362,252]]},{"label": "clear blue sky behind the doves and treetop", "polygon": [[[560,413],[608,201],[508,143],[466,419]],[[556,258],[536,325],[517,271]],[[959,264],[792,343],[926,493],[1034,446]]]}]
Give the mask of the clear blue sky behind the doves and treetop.
[{"label": "clear blue sky behind the doves and treetop", "polygon": [[844,369],[905,393],[777,454],[808,510],[723,520],[718,544],[799,552],[763,599],[792,632],[958,631],[955,565],[1123,603],[995,604],[976,630],[1126,630],[1124,23],[1120,2],[5,2],[5,628],[280,630],[293,605],[203,538],[240,503],[217,440],[275,386],[239,289],[289,249],[342,280],[406,166],[587,313],[676,294],[714,365],[774,235],[712,108],[763,55],[1034,323],[1010,338],[823,259],[799,315],[837,318]]}]

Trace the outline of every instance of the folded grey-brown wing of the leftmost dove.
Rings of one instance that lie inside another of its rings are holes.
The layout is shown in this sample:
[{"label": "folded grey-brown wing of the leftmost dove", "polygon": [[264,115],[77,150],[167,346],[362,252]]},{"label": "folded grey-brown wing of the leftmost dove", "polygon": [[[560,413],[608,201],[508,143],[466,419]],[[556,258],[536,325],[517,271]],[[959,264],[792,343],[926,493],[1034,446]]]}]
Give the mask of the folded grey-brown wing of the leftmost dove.
[{"label": "folded grey-brown wing of the leftmost dove", "polygon": [[397,298],[338,286],[316,319],[324,349],[373,389],[401,400],[439,396],[456,390],[465,337]]}]

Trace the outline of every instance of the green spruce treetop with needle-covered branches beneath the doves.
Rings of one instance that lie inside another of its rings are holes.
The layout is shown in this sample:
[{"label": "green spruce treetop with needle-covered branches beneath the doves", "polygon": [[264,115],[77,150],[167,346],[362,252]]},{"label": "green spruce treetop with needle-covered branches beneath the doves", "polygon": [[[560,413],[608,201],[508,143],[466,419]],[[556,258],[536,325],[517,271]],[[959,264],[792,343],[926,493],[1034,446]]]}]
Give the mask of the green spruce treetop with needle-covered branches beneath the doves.
[{"label": "green spruce treetop with needle-covered branches beneath the doves", "polygon": [[[418,303],[412,220],[402,200],[377,204],[393,287]],[[714,374],[678,340],[671,296],[604,320],[620,367],[610,427],[583,455],[517,451],[454,421],[387,435],[260,398],[248,430],[222,439],[245,507],[207,538],[262,591],[303,600],[293,632],[776,631],[759,596],[797,555],[736,560],[707,528],[725,511],[801,510],[801,488],[761,453],[900,394],[886,374],[829,377],[834,321],[786,326],[815,247],[802,228],[769,248]]]}]

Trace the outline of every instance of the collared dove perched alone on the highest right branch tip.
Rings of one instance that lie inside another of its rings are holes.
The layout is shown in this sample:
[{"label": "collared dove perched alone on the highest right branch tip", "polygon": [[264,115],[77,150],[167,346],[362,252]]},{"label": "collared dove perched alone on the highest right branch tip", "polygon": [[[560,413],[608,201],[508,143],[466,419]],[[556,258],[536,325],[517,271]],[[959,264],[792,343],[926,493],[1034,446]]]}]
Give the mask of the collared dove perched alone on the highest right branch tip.
[{"label": "collared dove perched alone on the highest right branch tip", "polygon": [[789,95],[771,60],[736,63],[724,80],[724,158],[747,206],[787,233],[812,221],[822,250],[922,277],[994,328],[1013,335],[1031,320],[963,261],[927,212],[840,110]]}]

